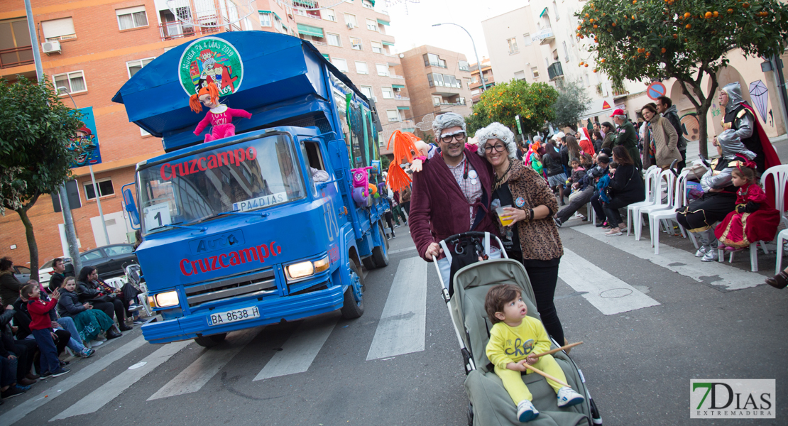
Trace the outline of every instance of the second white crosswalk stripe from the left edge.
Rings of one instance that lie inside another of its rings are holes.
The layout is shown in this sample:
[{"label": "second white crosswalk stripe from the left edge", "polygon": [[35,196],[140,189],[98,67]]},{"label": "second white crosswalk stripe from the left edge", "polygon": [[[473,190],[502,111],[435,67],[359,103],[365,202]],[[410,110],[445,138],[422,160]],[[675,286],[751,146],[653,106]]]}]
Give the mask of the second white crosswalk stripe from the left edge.
[{"label": "second white crosswalk stripe from the left edge", "polygon": [[159,365],[162,365],[165,361],[169,360],[170,357],[172,357],[174,354],[177,354],[178,351],[184,349],[184,347],[188,346],[190,343],[193,342],[191,340],[186,340],[184,342],[165,344],[153,354],[150,354],[143,359],[143,361],[147,364],[143,365],[139,369],[125,370],[124,372],[121,372],[121,374],[118,374],[112,380],[104,383],[95,391],[92,391],[84,398],[75,402],[62,413],[52,417],[50,421],[65,419],[72,416],[79,416],[80,414],[95,413],[101,409],[102,406],[106,405],[106,403],[112,401],[118,395],[121,395],[121,393],[128,389],[128,387],[131,387],[132,384],[142,379],[145,375],[147,375],[147,373],[152,372]]}]

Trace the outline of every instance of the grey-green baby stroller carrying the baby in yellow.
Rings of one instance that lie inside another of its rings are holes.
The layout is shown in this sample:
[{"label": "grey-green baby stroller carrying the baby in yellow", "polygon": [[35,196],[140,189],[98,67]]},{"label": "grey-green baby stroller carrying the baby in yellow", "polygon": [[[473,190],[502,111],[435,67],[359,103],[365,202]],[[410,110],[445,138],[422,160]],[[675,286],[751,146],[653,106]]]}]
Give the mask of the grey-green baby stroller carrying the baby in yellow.
[{"label": "grey-green baby stroller carrying the baby in yellow", "polygon": [[[502,254],[504,258],[478,261],[478,257],[486,259],[489,256],[490,238],[489,232],[466,232],[452,235],[440,242],[450,263],[458,255],[477,260],[463,266],[452,276],[454,291],[451,296],[445,286],[442,291],[465,365],[464,386],[470,400],[468,424],[520,425],[522,423],[517,419],[515,404],[504,389],[500,378],[493,372],[492,363],[485,354],[489,330],[492,328],[492,322],[485,313],[487,291],[497,284],[515,284],[522,288],[522,299],[528,306],[528,315],[537,319],[540,317],[528,274],[521,263],[508,259],[505,251]],[[500,239],[497,240],[499,246],[503,246]],[[469,249],[475,251],[475,256],[468,256]],[[437,262],[433,263],[438,269]],[[454,262],[452,271],[457,266]],[[438,278],[443,285],[440,270],[438,270]],[[552,341],[551,349],[559,346],[555,340]],[[559,409],[556,392],[548,385],[547,380],[535,373],[524,374],[522,380],[528,385],[533,395],[533,405],[539,410],[539,416],[528,424],[533,426],[602,424],[602,418],[585,386],[585,378],[578,366],[563,351],[552,356],[567,376],[567,383],[574,391],[585,395],[585,402]]]}]

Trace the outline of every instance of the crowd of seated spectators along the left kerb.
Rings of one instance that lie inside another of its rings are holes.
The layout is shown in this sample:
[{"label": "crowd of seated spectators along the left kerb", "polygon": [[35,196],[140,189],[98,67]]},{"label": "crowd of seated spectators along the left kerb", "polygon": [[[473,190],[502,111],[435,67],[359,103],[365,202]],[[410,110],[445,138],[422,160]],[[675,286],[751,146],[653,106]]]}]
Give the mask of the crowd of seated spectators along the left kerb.
[{"label": "crowd of seated spectators along the left kerb", "polygon": [[[0,258],[0,391],[2,399],[24,394],[39,380],[69,372],[68,348],[91,357],[95,347],[143,324],[134,302],[139,289],[121,289],[99,279],[86,266],[66,276],[63,259],[54,259],[49,286],[20,282],[13,261]],[[117,321],[117,322],[116,322]],[[0,401],[2,403],[2,401]]]}]

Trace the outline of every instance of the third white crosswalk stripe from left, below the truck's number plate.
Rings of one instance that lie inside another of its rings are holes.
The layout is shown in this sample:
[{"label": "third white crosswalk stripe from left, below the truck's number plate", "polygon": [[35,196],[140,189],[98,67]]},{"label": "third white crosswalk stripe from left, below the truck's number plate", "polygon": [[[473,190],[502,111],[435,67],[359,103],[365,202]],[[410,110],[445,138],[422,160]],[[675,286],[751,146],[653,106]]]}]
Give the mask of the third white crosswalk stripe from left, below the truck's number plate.
[{"label": "third white crosswalk stripe from left, below the truck's number plate", "polygon": [[206,350],[184,371],[180,372],[173,380],[170,380],[147,400],[169,398],[199,391],[219,370],[232,360],[232,357],[235,357],[252,339],[255,339],[255,336],[261,330],[261,327],[247,328],[246,330],[232,333],[227,337],[227,343],[229,344]]}]

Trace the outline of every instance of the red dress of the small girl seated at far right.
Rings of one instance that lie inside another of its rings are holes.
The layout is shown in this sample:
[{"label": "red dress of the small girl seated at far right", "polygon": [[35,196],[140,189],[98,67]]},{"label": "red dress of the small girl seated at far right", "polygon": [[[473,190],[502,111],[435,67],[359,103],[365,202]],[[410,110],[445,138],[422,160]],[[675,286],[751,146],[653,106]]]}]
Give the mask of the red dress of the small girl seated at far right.
[{"label": "red dress of the small girl seated at far right", "polygon": [[780,213],[767,202],[764,190],[749,183],[736,191],[736,209],[717,225],[714,234],[726,246],[743,248],[775,239],[779,223]]}]

